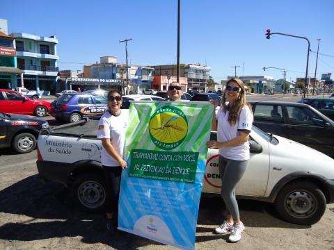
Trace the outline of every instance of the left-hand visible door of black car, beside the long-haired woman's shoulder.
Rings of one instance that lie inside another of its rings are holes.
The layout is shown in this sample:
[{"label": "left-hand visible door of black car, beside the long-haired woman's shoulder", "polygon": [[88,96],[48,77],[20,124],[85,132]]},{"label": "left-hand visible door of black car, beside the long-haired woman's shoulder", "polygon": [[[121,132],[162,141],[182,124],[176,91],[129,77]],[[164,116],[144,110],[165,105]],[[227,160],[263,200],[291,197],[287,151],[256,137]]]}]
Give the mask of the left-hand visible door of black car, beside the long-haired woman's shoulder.
[{"label": "left-hand visible door of black car, beside the long-haired woman's shoulder", "polygon": [[254,103],[253,114],[253,124],[257,126],[257,128],[261,128],[267,133],[289,138],[288,127],[283,113],[283,105],[278,103]]}]

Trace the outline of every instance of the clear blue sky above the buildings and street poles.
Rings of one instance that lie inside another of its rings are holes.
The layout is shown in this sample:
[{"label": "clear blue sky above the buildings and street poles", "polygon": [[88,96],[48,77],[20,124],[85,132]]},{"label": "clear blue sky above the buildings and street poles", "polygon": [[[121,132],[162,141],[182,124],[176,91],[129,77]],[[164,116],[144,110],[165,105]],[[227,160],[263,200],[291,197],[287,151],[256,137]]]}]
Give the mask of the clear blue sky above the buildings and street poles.
[{"label": "clear blue sky above the buildings and street poles", "polygon": [[[60,70],[82,70],[116,56],[133,65],[177,64],[177,0],[24,1],[2,0],[0,18],[8,33],[56,35]],[[180,63],[212,67],[220,82],[228,76],[273,76],[287,80],[334,73],[333,0],[181,0]],[[234,66],[239,66],[234,68]],[[334,75],[334,74],[333,74]],[[334,77],[332,77],[334,78]]]}]

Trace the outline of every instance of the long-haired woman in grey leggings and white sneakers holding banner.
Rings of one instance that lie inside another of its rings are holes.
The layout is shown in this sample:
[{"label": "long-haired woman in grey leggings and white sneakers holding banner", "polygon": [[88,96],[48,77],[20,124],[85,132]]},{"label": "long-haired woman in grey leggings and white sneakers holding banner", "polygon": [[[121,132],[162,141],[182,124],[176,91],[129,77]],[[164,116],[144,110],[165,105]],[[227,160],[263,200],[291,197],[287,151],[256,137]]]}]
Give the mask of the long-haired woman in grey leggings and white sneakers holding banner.
[{"label": "long-haired woman in grey leggings and white sneakers holding banner", "polygon": [[[214,108],[218,101],[212,100]],[[207,147],[218,148],[218,167],[221,174],[221,197],[226,206],[226,220],[216,233],[228,233],[230,242],[238,242],[245,226],[239,217],[235,188],[246,172],[250,158],[248,137],[253,123],[253,112],[246,103],[244,83],[231,78],[226,84],[221,108],[213,115],[212,131],[218,141],[207,142]]]}]

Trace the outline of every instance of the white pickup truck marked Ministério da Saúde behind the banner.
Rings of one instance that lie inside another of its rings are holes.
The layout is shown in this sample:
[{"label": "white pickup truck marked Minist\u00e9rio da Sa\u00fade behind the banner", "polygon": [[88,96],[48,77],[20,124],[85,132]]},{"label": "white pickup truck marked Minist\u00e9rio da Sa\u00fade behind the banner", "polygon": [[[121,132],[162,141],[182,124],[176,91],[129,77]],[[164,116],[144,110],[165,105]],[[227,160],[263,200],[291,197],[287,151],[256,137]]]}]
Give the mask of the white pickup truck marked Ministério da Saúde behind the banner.
[{"label": "white pickup truck marked Minist\u00e9rio da Sa\u00fade behind the banner", "polygon": [[[72,188],[74,203],[86,212],[104,210],[105,189],[97,122],[82,120],[47,128],[38,136],[37,168],[42,181]],[[216,132],[212,132],[212,139]],[[203,196],[220,195],[218,149],[209,149]],[[273,203],[294,224],[315,224],[334,203],[334,159],[302,144],[253,127],[250,164],[237,197]]]}]

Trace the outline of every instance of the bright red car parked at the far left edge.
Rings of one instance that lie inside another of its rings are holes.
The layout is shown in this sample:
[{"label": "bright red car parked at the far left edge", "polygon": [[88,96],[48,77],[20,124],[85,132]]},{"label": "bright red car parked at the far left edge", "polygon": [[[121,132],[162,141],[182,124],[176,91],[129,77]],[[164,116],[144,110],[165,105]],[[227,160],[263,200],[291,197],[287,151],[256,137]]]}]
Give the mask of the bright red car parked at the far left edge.
[{"label": "bright red car parked at the far left edge", "polygon": [[49,101],[33,100],[14,90],[0,89],[0,113],[45,117],[50,106]]}]

